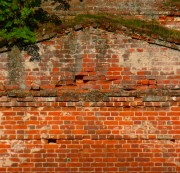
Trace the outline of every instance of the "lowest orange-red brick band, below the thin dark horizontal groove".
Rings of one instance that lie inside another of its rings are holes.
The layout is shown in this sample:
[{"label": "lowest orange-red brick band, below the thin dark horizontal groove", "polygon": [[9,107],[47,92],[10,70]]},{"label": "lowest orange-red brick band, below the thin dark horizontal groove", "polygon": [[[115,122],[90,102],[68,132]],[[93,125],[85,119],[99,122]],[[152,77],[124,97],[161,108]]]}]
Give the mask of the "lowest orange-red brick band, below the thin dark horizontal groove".
[{"label": "lowest orange-red brick band, below the thin dark horizontal groove", "polygon": [[2,173],[179,172],[180,141],[1,140]]}]

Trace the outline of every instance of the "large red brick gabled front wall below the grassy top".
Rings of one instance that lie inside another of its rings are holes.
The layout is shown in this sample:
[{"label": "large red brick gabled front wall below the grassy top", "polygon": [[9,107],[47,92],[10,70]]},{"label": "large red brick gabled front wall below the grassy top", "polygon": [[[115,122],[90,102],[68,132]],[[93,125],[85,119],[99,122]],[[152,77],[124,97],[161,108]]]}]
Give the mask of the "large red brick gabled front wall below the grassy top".
[{"label": "large red brick gabled front wall below the grassy top", "polygon": [[178,50],[94,28],[39,47],[0,54],[0,172],[180,172]]}]

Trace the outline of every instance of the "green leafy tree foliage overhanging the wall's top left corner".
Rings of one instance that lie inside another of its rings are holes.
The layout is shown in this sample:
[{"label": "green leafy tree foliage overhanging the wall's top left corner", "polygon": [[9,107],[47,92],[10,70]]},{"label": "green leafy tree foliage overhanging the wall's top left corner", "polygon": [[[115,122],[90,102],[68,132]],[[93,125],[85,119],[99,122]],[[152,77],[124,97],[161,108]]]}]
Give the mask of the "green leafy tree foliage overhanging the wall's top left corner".
[{"label": "green leafy tree foliage overhanging the wall's top left corner", "polygon": [[[47,1],[47,0],[44,0]],[[57,3],[56,10],[69,8],[66,0]],[[40,8],[42,0],[0,0],[0,37],[2,45],[32,44],[37,41],[35,30],[43,23],[61,23],[57,17]],[[54,20],[55,19],[55,20]]]}]

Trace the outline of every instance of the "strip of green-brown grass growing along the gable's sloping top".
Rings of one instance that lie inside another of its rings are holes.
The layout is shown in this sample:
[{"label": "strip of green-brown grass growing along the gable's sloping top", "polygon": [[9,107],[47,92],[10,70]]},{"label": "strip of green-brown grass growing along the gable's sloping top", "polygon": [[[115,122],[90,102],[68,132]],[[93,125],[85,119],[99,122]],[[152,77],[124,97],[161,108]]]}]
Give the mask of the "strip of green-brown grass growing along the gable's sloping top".
[{"label": "strip of green-brown grass growing along the gable's sloping top", "polygon": [[75,17],[71,24],[77,25],[88,23],[110,25],[112,30],[117,30],[122,26],[125,26],[133,33],[138,33],[140,35],[146,34],[149,36],[156,35],[158,38],[165,41],[180,43],[180,31],[166,28],[156,21],[145,21],[132,17],[123,18],[110,15],[80,14]]}]

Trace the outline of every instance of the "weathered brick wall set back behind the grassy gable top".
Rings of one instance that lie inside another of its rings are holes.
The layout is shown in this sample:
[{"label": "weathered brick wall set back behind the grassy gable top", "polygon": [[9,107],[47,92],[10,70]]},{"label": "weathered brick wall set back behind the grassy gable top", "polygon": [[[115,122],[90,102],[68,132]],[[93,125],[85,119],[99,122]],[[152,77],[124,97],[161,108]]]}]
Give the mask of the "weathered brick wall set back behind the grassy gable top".
[{"label": "weathered brick wall set back behind the grassy gable top", "polygon": [[180,11],[171,8],[170,0],[70,0],[70,9],[55,10],[57,3],[51,1],[43,3],[42,7],[49,13],[58,15],[62,20],[68,20],[77,14],[113,14],[133,15],[141,19],[157,20],[161,24],[178,29],[180,28]]}]

